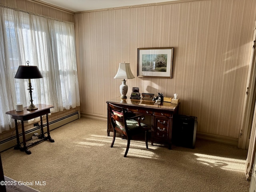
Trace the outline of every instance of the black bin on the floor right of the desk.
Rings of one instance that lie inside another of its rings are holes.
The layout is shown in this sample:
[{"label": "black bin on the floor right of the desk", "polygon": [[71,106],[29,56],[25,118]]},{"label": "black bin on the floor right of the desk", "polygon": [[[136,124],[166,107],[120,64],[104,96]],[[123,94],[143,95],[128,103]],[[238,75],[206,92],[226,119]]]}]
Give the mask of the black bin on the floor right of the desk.
[{"label": "black bin on the floor right of the desk", "polygon": [[179,115],[172,130],[172,143],[176,146],[195,148],[197,117]]}]

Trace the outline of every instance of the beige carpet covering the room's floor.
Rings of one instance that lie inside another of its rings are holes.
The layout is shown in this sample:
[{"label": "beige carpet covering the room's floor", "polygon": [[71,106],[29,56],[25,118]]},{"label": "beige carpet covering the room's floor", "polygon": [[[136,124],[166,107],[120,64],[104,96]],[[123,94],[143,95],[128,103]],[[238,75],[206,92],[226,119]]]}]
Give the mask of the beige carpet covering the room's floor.
[{"label": "beige carpet covering the room's floor", "polygon": [[[4,174],[40,192],[247,192],[246,150],[202,140],[196,148],[151,146],[116,138],[107,122],[80,118],[51,131],[54,143],[1,153]],[[14,141],[15,142],[15,141]],[[38,185],[35,182],[41,181]]]}]

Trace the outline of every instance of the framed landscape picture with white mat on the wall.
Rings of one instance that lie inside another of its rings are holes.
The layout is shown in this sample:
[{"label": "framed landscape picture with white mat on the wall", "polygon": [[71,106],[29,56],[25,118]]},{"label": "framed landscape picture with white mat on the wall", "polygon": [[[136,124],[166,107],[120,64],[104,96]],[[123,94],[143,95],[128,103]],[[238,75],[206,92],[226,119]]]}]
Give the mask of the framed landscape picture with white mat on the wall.
[{"label": "framed landscape picture with white mat on the wall", "polygon": [[172,78],[173,47],[138,48],[138,77]]}]

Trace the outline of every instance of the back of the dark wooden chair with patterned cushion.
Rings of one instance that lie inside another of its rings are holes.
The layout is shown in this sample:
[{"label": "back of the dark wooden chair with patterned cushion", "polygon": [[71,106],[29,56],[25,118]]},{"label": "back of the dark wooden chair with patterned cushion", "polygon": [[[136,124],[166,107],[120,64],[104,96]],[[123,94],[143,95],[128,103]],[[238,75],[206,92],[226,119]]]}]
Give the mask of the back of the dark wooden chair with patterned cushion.
[{"label": "back of the dark wooden chair with patterned cushion", "polygon": [[123,107],[111,103],[108,104],[108,107],[112,128],[120,134],[128,136],[128,128],[126,124],[127,111]]}]

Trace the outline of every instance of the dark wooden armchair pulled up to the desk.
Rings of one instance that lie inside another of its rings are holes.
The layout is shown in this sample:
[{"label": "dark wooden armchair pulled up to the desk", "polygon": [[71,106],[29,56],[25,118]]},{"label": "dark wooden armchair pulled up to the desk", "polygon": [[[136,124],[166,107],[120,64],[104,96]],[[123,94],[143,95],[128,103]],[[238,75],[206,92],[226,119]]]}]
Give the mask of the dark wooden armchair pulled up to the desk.
[{"label": "dark wooden armchair pulled up to the desk", "polygon": [[125,110],[123,107],[119,107],[111,103],[109,103],[108,106],[109,115],[111,117],[111,125],[114,132],[112,144],[110,147],[112,148],[114,146],[116,132],[126,136],[127,146],[126,151],[124,153],[124,157],[126,157],[130,147],[130,140],[132,139],[132,136],[143,132],[145,134],[146,148],[148,149],[149,128],[147,127],[146,124],[140,123],[140,120],[143,118],[143,116],[136,116],[136,114],[134,113],[127,112],[127,110]]}]

